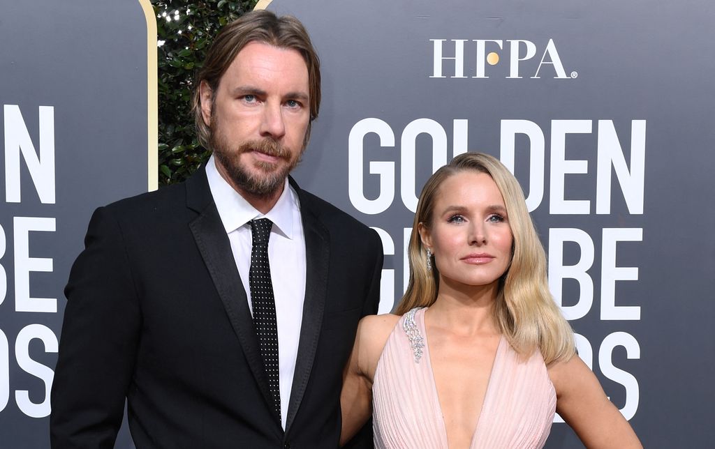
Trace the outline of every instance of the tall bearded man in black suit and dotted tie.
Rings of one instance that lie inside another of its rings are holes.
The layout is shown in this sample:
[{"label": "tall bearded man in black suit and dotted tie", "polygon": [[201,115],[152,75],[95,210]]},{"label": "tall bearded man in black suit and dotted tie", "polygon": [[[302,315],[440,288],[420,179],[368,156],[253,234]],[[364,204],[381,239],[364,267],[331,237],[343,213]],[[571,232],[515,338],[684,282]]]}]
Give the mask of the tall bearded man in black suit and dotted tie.
[{"label": "tall bearded man in black suit and dotted tie", "polygon": [[89,223],[65,290],[53,448],[111,448],[125,398],[139,449],[337,447],[342,369],[377,311],[383,255],[288,178],[320,105],[310,38],[294,18],[245,14],[196,89],[205,168]]}]

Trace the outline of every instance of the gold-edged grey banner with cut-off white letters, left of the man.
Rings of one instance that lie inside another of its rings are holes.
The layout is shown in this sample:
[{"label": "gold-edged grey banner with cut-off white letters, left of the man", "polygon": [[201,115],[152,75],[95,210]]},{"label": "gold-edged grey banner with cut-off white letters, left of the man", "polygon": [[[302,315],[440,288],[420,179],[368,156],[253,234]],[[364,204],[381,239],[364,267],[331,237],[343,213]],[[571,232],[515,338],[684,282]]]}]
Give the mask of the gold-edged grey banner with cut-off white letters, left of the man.
[{"label": "gold-edged grey banner with cut-off white letters, left of the man", "polygon": [[149,0],[0,0],[0,42],[0,446],[49,448],[89,217],[156,188],[156,22]]}]

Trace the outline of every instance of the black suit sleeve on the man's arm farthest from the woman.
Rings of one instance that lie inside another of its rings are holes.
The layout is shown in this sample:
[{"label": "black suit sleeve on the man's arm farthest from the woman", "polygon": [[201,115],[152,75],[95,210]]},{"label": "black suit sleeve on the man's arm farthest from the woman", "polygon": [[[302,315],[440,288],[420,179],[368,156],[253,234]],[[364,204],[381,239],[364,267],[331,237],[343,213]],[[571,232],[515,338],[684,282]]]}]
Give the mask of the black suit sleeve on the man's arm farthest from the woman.
[{"label": "black suit sleeve on the man's arm farthest from the woman", "polygon": [[112,448],[134,370],[141,315],[122,229],[94,212],[71,268],[51,392],[54,449]]}]

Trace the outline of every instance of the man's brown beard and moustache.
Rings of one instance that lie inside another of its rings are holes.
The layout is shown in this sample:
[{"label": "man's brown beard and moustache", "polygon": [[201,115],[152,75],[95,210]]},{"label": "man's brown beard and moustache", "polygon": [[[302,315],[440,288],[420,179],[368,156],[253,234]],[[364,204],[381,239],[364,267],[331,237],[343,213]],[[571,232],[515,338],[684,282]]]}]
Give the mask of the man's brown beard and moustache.
[{"label": "man's brown beard and moustache", "polygon": [[[211,146],[217,160],[234,186],[255,196],[267,197],[279,191],[288,173],[298,165],[305,151],[305,147],[301,148],[300,155],[291,159],[292,153],[272,138],[245,141],[238,148],[232,148],[225,136],[217,129],[215,121],[212,122]],[[253,168],[260,173],[252,173],[241,163],[241,155],[250,151],[277,157],[279,161],[275,163],[255,161]]]}]

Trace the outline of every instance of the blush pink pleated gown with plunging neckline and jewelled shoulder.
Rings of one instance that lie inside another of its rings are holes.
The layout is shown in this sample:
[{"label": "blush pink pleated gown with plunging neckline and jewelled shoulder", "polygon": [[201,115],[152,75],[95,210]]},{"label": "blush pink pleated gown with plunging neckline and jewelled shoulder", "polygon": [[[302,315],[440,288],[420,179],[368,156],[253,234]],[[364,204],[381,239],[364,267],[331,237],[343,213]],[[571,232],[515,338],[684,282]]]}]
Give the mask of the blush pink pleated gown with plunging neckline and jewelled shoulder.
[{"label": "blush pink pleated gown with plunging neckline and jewelled shoulder", "polygon": [[[400,318],[373,381],[378,449],[448,449],[430,365],[425,308]],[[521,361],[501,338],[470,449],[543,448],[556,412],[556,391],[541,353]]]}]

